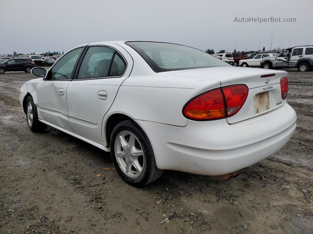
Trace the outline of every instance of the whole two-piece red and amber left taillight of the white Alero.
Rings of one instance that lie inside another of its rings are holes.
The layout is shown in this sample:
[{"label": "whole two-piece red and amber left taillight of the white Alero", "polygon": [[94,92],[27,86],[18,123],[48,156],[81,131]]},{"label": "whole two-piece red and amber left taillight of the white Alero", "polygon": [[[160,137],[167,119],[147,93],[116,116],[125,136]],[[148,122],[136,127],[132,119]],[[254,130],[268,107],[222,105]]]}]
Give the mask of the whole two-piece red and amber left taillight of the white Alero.
[{"label": "whole two-piece red and amber left taillight of the white Alero", "polygon": [[247,96],[246,85],[214,89],[189,101],[183,109],[183,114],[194,120],[222,119],[236,114],[244,105]]}]

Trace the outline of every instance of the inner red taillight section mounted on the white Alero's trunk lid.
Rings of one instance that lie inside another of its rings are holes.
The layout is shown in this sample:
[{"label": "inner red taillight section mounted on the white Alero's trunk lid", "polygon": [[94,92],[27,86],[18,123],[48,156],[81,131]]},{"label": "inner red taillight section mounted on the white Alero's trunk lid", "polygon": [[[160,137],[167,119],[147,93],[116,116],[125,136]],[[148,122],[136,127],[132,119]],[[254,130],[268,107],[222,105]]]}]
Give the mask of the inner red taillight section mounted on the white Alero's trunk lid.
[{"label": "inner red taillight section mounted on the white Alero's trunk lid", "polygon": [[246,85],[230,85],[222,88],[226,101],[226,115],[236,114],[248,96],[248,87]]}]

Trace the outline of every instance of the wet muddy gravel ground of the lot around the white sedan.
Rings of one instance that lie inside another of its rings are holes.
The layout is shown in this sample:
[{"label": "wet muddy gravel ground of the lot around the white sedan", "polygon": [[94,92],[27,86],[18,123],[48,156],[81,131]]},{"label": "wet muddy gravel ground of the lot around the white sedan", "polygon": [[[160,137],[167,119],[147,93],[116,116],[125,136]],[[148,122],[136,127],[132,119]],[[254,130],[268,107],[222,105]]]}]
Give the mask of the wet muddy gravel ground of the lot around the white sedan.
[{"label": "wet muddy gravel ground of the lot around the white sedan", "polygon": [[313,233],[313,71],[286,71],[298,119],[284,148],[229,181],[165,171],[145,188],[124,183],[109,153],[31,132],[18,96],[34,77],[1,75],[0,233]]}]

